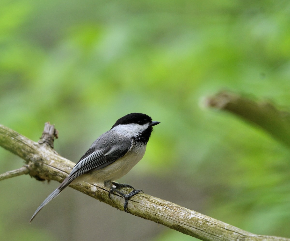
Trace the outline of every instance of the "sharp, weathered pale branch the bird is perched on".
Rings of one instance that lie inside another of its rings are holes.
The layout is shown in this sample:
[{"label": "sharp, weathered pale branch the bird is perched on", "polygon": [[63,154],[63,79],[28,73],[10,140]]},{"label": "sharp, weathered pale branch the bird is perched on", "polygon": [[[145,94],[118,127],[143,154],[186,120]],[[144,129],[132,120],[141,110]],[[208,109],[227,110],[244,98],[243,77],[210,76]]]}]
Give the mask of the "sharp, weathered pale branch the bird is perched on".
[{"label": "sharp, weathered pale branch the bird is perched on", "polygon": [[[46,134],[50,133],[50,136],[45,134],[38,143],[35,143],[19,133],[0,125],[0,146],[23,158],[30,176],[37,180],[56,180],[62,182],[68,173],[70,173],[75,163],[59,156],[51,148],[51,141],[43,140],[43,138],[50,138],[53,142],[57,133],[54,130],[54,126],[46,123],[45,132]],[[118,195],[111,195],[112,200],[110,200],[108,189],[86,182],[70,185],[70,187],[105,202],[112,207],[123,210],[123,198]],[[288,238],[255,235],[145,193],[139,193],[129,200],[128,212],[201,240],[290,241]]]}]

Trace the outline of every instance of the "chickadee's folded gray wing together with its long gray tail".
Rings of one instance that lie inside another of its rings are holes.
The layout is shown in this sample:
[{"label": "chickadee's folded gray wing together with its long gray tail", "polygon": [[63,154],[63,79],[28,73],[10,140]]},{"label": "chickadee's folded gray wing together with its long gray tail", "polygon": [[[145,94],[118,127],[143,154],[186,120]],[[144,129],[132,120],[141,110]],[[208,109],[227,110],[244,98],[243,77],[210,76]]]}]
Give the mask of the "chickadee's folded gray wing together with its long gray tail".
[{"label": "chickadee's folded gray wing together with its long gray tail", "polygon": [[101,169],[124,156],[132,147],[131,139],[124,139],[114,135],[111,131],[100,136],[80,158],[70,174],[64,179],[60,186],[55,189],[36,209],[29,223],[35,215],[53,198],[55,198],[65,187],[82,174],[93,169]]}]

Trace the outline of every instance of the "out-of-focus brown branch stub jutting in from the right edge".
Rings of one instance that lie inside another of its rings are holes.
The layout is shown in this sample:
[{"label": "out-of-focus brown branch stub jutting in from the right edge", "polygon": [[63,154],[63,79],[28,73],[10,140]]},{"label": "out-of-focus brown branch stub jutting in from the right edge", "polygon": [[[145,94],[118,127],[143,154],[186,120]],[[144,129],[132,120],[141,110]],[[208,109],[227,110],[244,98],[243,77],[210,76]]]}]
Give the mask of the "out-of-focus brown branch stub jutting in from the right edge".
[{"label": "out-of-focus brown branch stub jutting in from the right edge", "polygon": [[273,138],[290,147],[290,113],[269,102],[256,102],[231,92],[220,92],[206,99],[209,107],[226,110],[262,127]]}]

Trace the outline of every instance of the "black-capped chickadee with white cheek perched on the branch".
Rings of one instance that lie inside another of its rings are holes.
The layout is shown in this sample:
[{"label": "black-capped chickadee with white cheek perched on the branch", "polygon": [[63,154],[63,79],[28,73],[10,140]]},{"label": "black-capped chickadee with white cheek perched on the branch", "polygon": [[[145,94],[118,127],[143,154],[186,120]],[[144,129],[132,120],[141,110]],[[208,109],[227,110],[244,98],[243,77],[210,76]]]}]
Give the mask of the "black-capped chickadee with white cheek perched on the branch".
[{"label": "black-capped chickadee with white cheek perched on the branch", "polygon": [[[124,197],[124,210],[127,211],[128,199],[142,190],[135,190],[128,184],[112,181],[127,174],[142,159],[152,127],[159,123],[141,113],[131,113],[118,119],[109,131],[94,141],[61,185],[36,209],[29,223],[50,200],[72,182],[103,182],[105,187],[111,189],[109,197],[114,191]],[[134,190],[124,194],[118,190],[122,187],[130,187]]]}]

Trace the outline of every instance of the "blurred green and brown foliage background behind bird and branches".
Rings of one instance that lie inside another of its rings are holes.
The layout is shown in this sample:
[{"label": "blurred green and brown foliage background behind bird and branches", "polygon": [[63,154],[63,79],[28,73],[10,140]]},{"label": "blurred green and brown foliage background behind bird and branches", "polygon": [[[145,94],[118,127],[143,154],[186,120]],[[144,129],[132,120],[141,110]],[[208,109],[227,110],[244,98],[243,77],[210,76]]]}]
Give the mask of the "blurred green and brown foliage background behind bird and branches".
[{"label": "blurred green and brown foliage background behind bird and branches", "polygon": [[[147,151],[120,182],[241,229],[290,237],[290,153],[262,129],[204,108],[220,90],[290,106],[290,2],[0,1],[0,123],[77,162],[131,112]],[[0,148],[0,172],[23,161]],[[2,240],[194,240],[71,188],[0,183]]]}]

